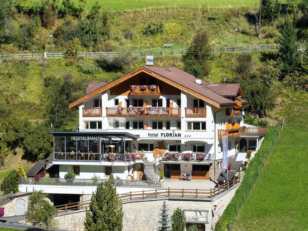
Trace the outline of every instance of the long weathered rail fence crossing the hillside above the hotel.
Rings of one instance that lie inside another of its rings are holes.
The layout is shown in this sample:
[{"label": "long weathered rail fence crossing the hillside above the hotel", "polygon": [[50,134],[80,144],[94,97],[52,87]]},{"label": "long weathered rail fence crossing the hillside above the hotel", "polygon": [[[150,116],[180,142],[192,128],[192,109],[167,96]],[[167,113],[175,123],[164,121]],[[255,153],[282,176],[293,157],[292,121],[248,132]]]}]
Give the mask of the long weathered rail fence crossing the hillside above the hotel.
[{"label": "long weathered rail fence crossing the hillside above the hotel", "polygon": [[[298,50],[306,50],[308,43],[300,43]],[[239,46],[239,47],[212,47],[212,51],[216,52],[253,52],[253,51],[277,51],[279,50],[279,44],[268,44],[268,45],[253,45],[253,46]],[[128,51],[133,57],[142,57],[144,55],[184,55],[188,53],[188,49],[178,49],[178,50],[146,50],[146,51]],[[99,58],[105,57],[115,57],[119,56],[125,51],[117,52],[82,52],[77,56],[81,58]],[[55,59],[55,58],[66,58],[66,53],[32,53],[32,54],[13,54],[13,55],[0,55],[0,59]]]}]

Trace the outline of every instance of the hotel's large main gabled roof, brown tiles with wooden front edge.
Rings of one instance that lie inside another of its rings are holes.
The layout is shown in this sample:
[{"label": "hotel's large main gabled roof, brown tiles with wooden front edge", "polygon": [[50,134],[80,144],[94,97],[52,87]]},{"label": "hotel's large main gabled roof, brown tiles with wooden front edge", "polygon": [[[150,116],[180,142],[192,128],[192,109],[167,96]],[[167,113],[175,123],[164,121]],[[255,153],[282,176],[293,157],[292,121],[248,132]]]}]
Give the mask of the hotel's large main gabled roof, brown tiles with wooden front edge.
[{"label": "hotel's large main gabled roof, brown tiles with wooden front edge", "polygon": [[[69,107],[75,107],[80,103],[83,103],[85,100],[94,97],[106,91],[116,85],[126,81],[127,79],[135,76],[139,73],[146,73],[151,75],[157,79],[164,81],[167,84],[170,84],[188,94],[194,95],[196,98],[202,99],[205,102],[208,102],[216,107],[234,107],[237,104],[221,96],[214,91],[210,90],[209,88],[205,87],[204,85],[209,84],[203,80],[201,80],[201,84],[196,83],[196,77],[193,75],[188,74],[185,71],[182,71],[176,67],[140,67],[110,83],[105,84],[102,87],[84,95],[83,97],[76,99],[74,102],[69,104]],[[204,85],[202,85],[204,84]]]}]

